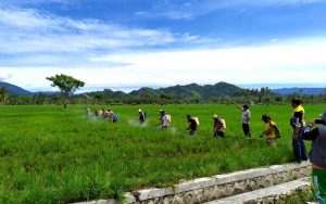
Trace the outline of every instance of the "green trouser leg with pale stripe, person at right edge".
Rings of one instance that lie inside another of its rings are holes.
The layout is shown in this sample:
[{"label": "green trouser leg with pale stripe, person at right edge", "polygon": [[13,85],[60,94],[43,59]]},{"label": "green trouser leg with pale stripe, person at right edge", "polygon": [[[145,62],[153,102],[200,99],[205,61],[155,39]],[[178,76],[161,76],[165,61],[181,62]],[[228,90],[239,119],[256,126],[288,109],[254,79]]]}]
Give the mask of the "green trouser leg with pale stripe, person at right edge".
[{"label": "green trouser leg with pale stripe, person at right edge", "polygon": [[326,204],[326,170],[313,168],[311,189],[318,203]]}]

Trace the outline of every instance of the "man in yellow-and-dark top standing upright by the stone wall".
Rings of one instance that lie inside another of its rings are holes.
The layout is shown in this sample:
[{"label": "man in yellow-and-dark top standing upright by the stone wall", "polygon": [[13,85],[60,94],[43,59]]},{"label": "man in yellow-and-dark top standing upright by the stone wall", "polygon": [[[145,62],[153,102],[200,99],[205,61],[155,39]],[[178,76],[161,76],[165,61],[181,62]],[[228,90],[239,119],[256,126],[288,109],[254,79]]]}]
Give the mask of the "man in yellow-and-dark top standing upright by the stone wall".
[{"label": "man in yellow-and-dark top standing upright by the stone wall", "polygon": [[292,148],[296,161],[301,163],[302,161],[308,161],[306,150],[304,142],[302,140],[302,133],[304,131],[305,125],[305,113],[301,105],[301,100],[292,99],[291,106],[293,107],[293,114],[290,119],[290,125],[293,129],[292,135]]}]

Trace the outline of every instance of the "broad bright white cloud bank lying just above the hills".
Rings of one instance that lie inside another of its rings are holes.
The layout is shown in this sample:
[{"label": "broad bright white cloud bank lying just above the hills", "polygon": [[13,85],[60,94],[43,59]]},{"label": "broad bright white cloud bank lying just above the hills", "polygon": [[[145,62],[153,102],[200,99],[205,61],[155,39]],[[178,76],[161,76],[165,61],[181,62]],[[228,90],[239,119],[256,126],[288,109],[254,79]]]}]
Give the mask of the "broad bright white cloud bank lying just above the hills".
[{"label": "broad bright white cloud bank lying just above the hills", "polygon": [[123,62],[111,68],[0,67],[13,73],[10,82],[50,85],[47,76],[64,73],[91,87],[142,87],[177,84],[325,84],[326,39],[296,39],[259,47],[122,52],[91,56],[96,63]]}]

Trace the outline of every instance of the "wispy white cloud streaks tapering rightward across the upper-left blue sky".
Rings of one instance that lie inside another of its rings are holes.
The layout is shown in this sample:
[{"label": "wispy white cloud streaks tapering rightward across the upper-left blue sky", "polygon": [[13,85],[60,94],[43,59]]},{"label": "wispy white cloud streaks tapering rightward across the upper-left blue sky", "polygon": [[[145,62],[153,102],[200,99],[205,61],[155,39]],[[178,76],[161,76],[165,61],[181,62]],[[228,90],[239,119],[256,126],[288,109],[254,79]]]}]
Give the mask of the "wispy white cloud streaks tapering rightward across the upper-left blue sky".
[{"label": "wispy white cloud streaks tapering rightward across the upper-left blue sky", "polygon": [[[0,53],[83,52],[183,42],[167,29],[126,27],[98,20],[73,20],[33,9],[0,7]],[[188,41],[200,40],[187,34]]]}]

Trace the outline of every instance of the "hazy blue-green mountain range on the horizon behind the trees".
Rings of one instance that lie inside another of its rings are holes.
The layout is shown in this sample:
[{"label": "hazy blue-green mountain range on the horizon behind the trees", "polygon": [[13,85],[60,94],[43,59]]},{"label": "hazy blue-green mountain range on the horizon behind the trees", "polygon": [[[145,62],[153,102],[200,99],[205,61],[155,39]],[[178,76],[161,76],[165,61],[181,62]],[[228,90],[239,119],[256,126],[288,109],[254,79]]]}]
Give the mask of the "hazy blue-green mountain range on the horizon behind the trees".
[{"label": "hazy blue-green mountain range on the horizon behind the trees", "polygon": [[[5,87],[11,94],[57,94],[55,92],[32,92],[25,90],[18,86],[2,82],[0,81],[0,87]],[[104,89],[103,91],[95,91],[88,93],[89,95],[103,94],[104,98],[166,98],[166,99],[185,99],[185,98],[200,98],[200,99],[209,99],[209,98],[218,98],[218,97],[235,97],[237,95],[240,87],[235,85],[230,85],[227,82],[217,82],[215,85],[204,85],[200,86],[197,84],[190,85],[177,85],[166,88],[153,89],[153,88],[140,88],[138,90],[134,90],[129,93],[125,93],[123,91],[112,91],[110,89]],[[322,94],[326,92],[325,88],[281,88],[281,89],[273,89],[273,92],[277,94],[291,94],[291,93],[302,93],[302,94]]]}]

